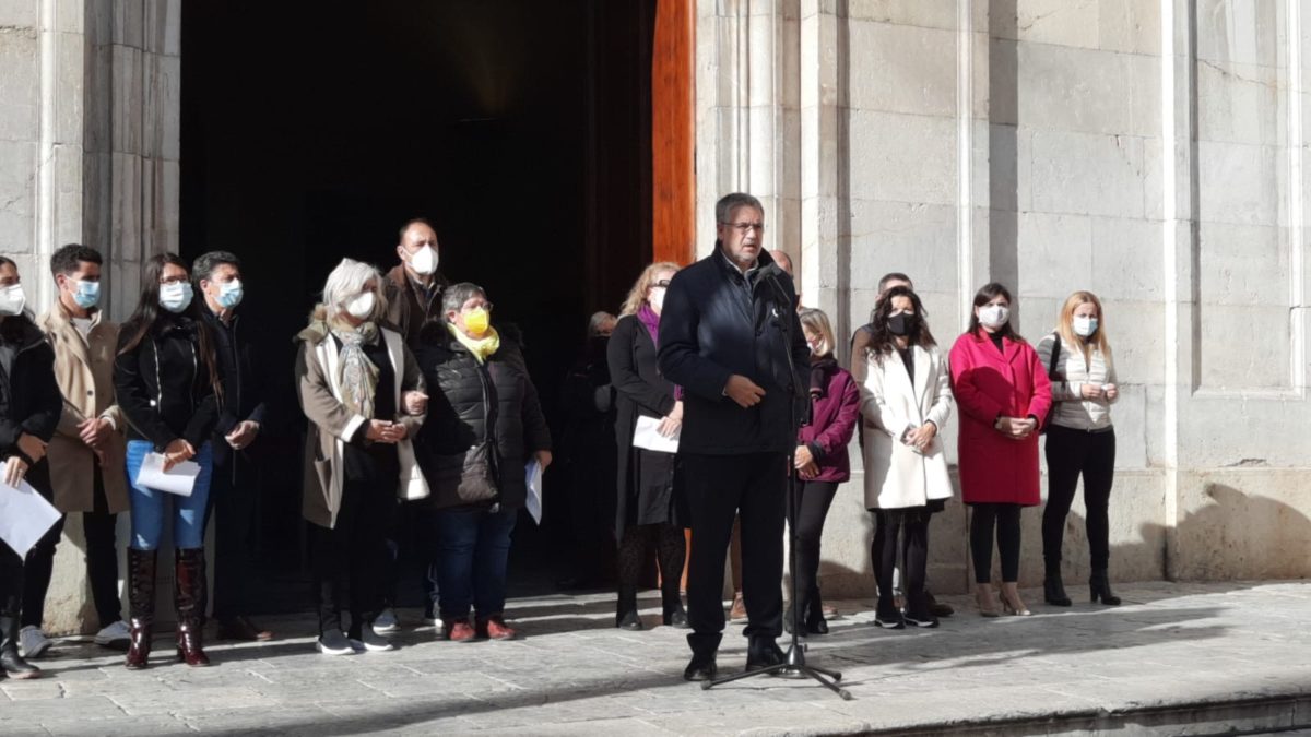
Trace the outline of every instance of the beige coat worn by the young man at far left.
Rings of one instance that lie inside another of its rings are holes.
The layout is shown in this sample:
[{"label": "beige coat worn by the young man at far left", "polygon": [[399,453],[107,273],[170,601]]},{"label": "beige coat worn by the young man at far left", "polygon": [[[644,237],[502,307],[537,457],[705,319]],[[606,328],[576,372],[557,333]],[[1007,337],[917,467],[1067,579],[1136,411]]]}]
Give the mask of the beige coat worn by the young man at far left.
[{"label": "beige coat worn by the young man at far left", "polygon": [[114,424],[101,466],[105,500],[109,511],[127,510],[127,475],[123,471],[126,443],[123,431],[127,421],[114,401],[114,351],[118,348],[118,325],[104,320],[104,313],[92,313],[87,340],[73,327],[68,312],[55,304],[37,320],[55,349],[55,380],[64,395],[64,410],[59,428],[46,450],[50,458],[50,485],[55,492],[59,511],[94,511],[96,452],[77,433],[77,425],[88,417],[104,417]]}]

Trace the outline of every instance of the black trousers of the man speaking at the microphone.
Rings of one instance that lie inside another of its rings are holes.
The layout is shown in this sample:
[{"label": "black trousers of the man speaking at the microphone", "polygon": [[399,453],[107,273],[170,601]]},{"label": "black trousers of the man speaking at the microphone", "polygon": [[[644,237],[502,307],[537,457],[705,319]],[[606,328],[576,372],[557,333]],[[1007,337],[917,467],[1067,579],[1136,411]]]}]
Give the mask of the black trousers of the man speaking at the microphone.
[{"label": "black trousers of the man speaking at the microphone", "polygon": [[742,597],[751,639],[783,633],[783,523],[788,488],[787,455],[682,456],[692,522],[687,618],[692,652],[709,654],[724,632],[724,560],[733,518],[742,521]]}]

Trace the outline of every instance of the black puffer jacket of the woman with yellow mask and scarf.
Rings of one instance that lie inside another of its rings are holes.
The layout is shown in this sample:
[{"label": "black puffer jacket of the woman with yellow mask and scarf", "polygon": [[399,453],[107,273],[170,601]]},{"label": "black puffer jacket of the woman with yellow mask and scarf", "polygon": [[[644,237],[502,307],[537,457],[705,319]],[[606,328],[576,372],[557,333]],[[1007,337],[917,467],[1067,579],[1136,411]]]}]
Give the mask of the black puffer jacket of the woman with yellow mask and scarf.
[{"label": "black puffer jacket of the woman with yellow mask and scarf", "polygon": [[427,386],[427,418],[414,443],[420,468],[429,479],[437,509],[463,506],[455,488],[433,484],[448,477],[450,464],[464,463],[464,452],[496,441],[497,487],[502,508],[518,509],[527,498],[524,466],[539,450],[551,450],[551,430],[532,379],[522,368],[519,346],[502,337],[501,349],[479,365],[440,323],[425,330],[414,350]]}]

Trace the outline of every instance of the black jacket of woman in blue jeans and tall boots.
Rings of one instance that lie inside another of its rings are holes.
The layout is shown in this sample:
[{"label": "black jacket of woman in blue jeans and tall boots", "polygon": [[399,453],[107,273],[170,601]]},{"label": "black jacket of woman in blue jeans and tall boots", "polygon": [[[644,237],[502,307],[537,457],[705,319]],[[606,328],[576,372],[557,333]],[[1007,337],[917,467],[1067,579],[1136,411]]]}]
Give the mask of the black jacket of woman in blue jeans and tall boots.
[{"label": "black jacket of woman in blue jeans and tall boots", "polygon": [[149,441],[163,452],[182,438],[197,451],[219,420],[218,399],[201,358],[198,330],[203,324],[181,315],[160,315],[132,350],[125,325],[114,358],[114,391],[127,417],[127,438]]}]

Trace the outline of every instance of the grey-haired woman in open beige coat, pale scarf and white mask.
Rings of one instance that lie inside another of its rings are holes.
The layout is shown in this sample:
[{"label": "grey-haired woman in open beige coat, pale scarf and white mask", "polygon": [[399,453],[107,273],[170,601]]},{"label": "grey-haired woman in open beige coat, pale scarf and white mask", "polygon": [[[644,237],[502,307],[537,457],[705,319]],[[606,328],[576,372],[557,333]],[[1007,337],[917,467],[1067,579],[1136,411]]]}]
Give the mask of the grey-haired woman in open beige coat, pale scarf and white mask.
[{"label": "grey-haired woman in open beige coat, pale scarf and white mask", "polygon": [[316,647],[328,656],[392,649],[374,631],[385,536],[397,498],[429,493],[410,442],[427,409],[423,376],[401,334],[379,324],[383,283],[376,268],[343,258],[296,334],[296,388],[309,420],[302,514],[312,523]]}]

